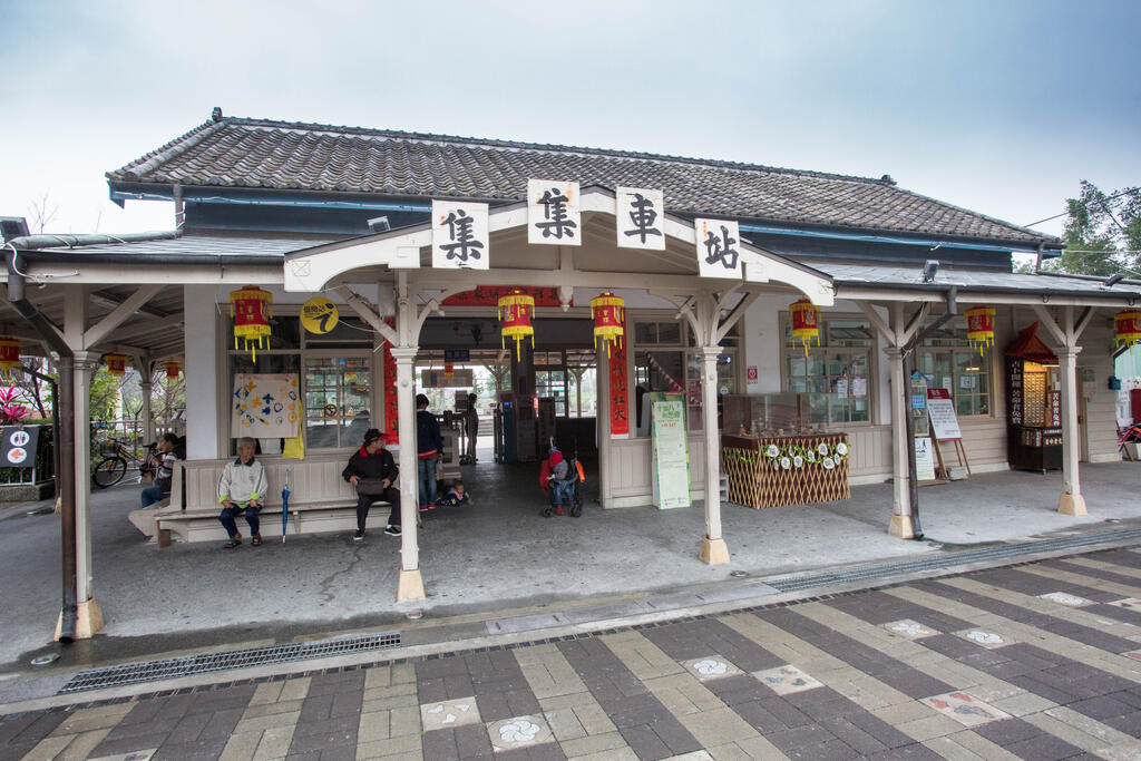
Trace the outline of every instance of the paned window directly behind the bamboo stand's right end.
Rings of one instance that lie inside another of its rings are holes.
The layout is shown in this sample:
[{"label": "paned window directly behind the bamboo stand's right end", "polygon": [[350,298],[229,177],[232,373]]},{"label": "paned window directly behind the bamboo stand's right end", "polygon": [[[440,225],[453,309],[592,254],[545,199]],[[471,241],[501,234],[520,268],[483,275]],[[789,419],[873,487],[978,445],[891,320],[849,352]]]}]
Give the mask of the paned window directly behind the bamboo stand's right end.
[{"label": "paned window directly behind the bamboo stand's right end", "polygon": [[872,329],[842,317],[820,323],[820,342],[814,341],[806,353],[799,341],[793,345],[792,321],[784,315],[785,390],[808,395],[810,423],[869,422]]}]

